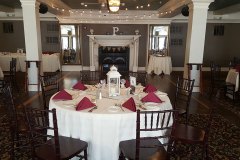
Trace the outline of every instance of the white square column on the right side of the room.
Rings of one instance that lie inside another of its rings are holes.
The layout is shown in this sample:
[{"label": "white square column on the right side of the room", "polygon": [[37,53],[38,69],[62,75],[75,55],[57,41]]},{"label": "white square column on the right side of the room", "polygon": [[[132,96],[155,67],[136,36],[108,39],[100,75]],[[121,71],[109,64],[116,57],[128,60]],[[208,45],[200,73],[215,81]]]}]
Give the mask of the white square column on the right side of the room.
[{"label": "white square column on the right side of the room", "polygon": [[[191,0],[189,6],[188,32],[184,62],[184,78],[188,77],[187,63],[202,63],[205,44],[205,33],[208,6],[213,0]],[[199,86],[200,73],[193,68],[191,79]],[[193,92],[199,92],[199,87],[194,87]]]}]

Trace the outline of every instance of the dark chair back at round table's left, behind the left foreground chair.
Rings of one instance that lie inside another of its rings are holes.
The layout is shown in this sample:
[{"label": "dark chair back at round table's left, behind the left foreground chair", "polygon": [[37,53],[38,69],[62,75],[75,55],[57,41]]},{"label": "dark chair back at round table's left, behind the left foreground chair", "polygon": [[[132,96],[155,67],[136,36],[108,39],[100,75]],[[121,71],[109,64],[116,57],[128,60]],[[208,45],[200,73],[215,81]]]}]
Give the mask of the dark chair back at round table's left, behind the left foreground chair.
[{"label": "dark chair back at round table's left, behind the left foreground chair", "polygon": [[59,91],[59,73],[48,74],[44,76],[39,76],[42,97],[44,103],[44,109],[48,109],[48,101],[50,97]]}]

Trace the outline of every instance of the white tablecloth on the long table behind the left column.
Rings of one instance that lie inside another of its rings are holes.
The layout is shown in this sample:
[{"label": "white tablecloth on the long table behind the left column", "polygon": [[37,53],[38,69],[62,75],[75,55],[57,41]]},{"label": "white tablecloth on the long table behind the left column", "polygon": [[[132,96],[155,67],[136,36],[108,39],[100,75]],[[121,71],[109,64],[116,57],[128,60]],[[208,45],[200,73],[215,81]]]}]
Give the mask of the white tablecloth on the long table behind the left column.
[{"label": "white tablecloth on the long table behind the left column", "polygon": [[[3,71],[9,71],[10,61],[12,58],[17,58],[17,71],[26,71],[26,54],[24,53],[4,53],[0,52],[0,66]],[[60,53],[54,53],[51,55],[42,55],[42,67],[43,72],[55,72],[61,69]]]}]

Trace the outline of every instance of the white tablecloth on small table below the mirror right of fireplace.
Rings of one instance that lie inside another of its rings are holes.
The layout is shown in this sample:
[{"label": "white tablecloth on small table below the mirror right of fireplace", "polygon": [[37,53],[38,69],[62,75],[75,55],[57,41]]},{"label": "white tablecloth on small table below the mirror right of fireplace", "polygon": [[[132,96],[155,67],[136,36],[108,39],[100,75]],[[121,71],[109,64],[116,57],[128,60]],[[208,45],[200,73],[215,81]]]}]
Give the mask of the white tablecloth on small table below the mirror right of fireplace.
[{"label": "white tablecloth on small table below the mirror right of fireplace", "polygon": [[161,74],[162,72],[164,74],[170,75],[170,73],[172,72],[171,57],[157,57],[150,55],[147,73],[150,74],[152,71],[154,71],[154,73],[157,75]]}]

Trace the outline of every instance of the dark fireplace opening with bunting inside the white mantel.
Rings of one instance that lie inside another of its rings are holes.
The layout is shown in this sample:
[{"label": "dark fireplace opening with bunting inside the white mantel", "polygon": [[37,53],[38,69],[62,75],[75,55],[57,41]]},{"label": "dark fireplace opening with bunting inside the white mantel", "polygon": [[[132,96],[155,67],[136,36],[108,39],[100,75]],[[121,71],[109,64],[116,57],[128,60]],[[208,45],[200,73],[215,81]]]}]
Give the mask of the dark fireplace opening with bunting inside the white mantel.
[{"label": "dark fireplace opening with bunting inside the white mantel", "polygon": [[118,71],[129,71],[129,47],[104,46],[98,48],[99,68],[103,72],[109,71],[112,65],[118,68]]}]

